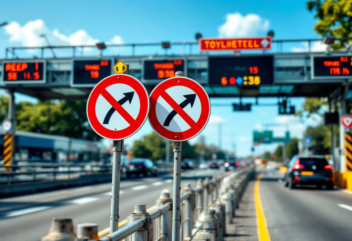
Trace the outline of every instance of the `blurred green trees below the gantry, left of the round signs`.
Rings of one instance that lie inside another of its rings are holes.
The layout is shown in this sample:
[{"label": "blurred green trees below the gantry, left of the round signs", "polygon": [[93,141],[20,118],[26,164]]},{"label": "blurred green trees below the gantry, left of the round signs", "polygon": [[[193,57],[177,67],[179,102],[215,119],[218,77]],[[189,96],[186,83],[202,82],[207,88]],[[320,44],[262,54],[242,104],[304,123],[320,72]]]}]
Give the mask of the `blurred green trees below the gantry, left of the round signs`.
[{"label": "blurred green trees below the gantry, left of the round signs", "polygon": [[[16,104],[16,130],[99,140],[90,127],[87,100],[39,100]],[[7,118],[8,97],[0,96],[0,121]]]}]

